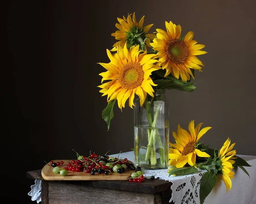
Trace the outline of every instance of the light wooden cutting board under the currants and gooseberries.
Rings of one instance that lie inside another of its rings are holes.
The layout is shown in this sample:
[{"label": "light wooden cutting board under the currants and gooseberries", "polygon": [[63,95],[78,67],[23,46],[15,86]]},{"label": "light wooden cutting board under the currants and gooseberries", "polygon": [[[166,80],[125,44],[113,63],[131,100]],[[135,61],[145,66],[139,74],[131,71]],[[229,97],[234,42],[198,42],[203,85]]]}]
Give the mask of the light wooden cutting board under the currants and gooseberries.
[{"label": "light wooden cutting board under the currants and gooseberries", "polygon": [[[54,162],[61,161],[61,160],[52,160]],[[64,167],[67,167],[67,163],[71,162],[72,160],[62,160],[64,161],[63,165],[60,165],[61,169]],[[132,164],[131,161],[129,163]],[[50,163],[48,163],[50,164]],[[68,174],[66,176],[61,176],[60,174],[54,174],[52,172],[53,167],[46,164],[42,169],[42,177],[46,181],[128,181],[128,178],[131,176],[134,170],[125,170],[123,173],[115,173],[111,172],[108,175],[105,175],[104,173],[98,174],[95,173],[95,175],[91,175],[90,173],[85,172],[73,172],[68,171]]]}]

